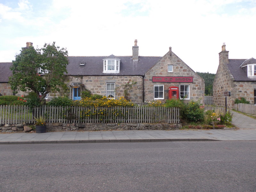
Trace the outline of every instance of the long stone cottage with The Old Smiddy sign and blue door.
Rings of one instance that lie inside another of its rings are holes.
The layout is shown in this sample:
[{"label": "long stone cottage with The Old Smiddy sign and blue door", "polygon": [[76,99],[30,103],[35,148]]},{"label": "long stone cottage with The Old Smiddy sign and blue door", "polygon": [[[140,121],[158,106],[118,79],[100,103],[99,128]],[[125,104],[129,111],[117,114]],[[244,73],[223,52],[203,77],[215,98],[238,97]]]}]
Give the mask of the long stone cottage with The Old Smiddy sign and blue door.
[{"label": "long stone cottage with The Old Smiddy sign and blue door", "polygon": [[[133,102],[183,98],[204,103],[204,80],[171,47],[163,57],[139,56],[135,40],[132,56],[68,56],[68,62],[66,87],[50,93],[49,99],[67,95],[80,100],[81,91],[87,89],[114,99],[125,96]],[[131,87],[127,92],[125,85]]]}]

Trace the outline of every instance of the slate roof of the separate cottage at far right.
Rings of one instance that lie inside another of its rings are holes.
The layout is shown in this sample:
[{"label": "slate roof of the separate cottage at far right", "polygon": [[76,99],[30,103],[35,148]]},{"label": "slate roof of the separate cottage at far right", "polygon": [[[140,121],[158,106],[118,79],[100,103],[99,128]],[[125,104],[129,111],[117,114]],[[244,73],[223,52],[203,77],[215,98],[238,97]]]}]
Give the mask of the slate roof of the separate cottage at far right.
[{"label": "slate roof of the separate cottage at far right", "polygon": [[256,78],[247,77],[247,67],[240,67],[245,59],[229,59],[227,64],[234,81],[256,81]]}]

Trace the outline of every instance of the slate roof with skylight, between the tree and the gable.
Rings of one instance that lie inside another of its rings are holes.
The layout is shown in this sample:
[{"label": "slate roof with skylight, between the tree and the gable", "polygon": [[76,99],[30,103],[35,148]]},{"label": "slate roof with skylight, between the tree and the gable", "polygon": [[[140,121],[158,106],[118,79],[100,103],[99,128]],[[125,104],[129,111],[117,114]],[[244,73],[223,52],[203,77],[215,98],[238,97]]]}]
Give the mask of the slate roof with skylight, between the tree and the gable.
[{"label": "slate roof with skylight, between the tree and the gable", "polygon": [[[114,55],[110,55],[111,58]],[[103,73],[103,59],[110,56],[69,56],[67,71],[68,75],[86,76],[122,76],[122,75],[144,75],[146,71],[156,64],[162,57],[140,56],[139,60],[132,60],[132,56],[114,56],[120,59],[120,73]],[[80,63],[85,62],[85,66]]]}]

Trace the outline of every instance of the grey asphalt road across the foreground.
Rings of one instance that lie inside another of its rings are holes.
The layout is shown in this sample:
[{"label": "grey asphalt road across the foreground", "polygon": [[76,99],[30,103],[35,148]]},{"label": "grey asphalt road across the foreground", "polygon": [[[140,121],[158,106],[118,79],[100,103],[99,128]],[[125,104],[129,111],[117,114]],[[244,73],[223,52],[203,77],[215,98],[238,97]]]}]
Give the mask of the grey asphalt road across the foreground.
[{"label": "grey asphalt road across the foreground", "polygon": [[0,191],[256,191],[255,141],[0,146]]}]

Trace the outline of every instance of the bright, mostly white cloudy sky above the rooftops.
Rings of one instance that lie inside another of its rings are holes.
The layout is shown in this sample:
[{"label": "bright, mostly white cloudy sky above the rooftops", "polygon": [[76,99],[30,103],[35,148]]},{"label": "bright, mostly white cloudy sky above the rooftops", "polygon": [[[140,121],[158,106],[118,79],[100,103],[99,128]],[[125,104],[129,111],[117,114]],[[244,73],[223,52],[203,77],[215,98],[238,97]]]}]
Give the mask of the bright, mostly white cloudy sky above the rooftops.
[{"label": "bright, mostly white cloudy sky above the rooftops", "polygon": [[196,72],[256,58],[256,0],[0,0],[0,62],[26,42],[56,42],[69,56],[164,56],[169,47]]}]

